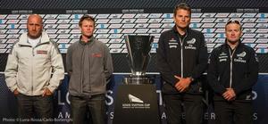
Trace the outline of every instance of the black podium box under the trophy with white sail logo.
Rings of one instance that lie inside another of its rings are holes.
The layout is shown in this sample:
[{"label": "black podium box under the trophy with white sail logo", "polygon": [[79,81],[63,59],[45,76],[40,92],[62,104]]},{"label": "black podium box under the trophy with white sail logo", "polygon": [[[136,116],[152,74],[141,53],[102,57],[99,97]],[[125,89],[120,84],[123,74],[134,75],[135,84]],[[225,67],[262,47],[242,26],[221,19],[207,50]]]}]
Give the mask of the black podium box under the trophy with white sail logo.
[{"label": "black podium box under the trophy with white sail logo", "polygon": [[115,96],[113,124],[160,124],[155,86],[119,86]]}]

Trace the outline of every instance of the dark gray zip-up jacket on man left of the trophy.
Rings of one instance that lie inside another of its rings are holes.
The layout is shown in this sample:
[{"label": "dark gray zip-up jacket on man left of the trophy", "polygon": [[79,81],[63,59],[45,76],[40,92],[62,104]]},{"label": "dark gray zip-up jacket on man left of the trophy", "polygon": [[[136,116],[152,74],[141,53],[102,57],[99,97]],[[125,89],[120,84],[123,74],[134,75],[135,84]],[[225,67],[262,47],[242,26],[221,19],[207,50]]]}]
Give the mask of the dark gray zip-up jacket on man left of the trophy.
[{"label": "dark gray zip-up jacket on man left of the trophy", "polygon": [[113,74],[112,56],[101,41],[77,41],[67,51],[66,67],[71,95],[105,94],[107,80]]}]

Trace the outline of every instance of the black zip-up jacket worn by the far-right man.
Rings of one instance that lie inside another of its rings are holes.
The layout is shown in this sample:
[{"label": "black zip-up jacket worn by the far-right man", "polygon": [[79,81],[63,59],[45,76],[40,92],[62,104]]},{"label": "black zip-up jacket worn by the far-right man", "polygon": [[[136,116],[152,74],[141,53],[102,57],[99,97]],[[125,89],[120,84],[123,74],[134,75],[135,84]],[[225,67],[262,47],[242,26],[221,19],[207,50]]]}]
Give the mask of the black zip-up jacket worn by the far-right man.
[{"label": "black zip-up jacket worn by the far-right man", "polygon": [[224,100],[222,94],[231,87],[236,99],[250,100],[252,87],[258,77],[255,50],[240,43],[231,50],[225,43],[215,48],[210,56],[207,79],[214,89],[214,100]]}]

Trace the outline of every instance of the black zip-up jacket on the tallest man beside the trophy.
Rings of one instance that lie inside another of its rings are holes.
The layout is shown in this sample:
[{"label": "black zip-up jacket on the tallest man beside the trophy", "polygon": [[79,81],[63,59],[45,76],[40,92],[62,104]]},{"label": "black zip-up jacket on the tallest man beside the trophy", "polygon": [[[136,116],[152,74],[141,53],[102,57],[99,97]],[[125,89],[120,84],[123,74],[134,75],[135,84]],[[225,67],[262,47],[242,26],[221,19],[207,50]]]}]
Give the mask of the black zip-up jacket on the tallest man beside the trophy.
[{"label": "black zip-up jacket on the tallest man beside the trophy", "polygon": [[174,76],[194,79],[188,93],[202,93],[200,76],[207,67],[207,48],[204,35],[197,30],[187,29],[186,36],[180,39],[179,32],[173,29],[163,32],[158,41],[157,68],[163,79],[163,93],[179,94],[174,87],[179,81]]}]

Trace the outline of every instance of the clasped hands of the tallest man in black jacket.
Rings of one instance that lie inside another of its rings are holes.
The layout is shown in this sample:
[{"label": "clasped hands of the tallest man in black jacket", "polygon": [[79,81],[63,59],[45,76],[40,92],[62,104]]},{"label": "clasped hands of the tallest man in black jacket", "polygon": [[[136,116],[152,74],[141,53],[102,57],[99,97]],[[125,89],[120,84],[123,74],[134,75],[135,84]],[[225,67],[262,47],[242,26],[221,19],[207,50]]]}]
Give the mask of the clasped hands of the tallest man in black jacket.
[{"label": "clasped hands of the tallest man in black jacket", "polygon": [[188,89],[188,86],[191,83],[190,78],[180,78],[179,76],[174,76],[176,79],[179,79],[179,81],[176,83],[175,87],[177,90],[181,92],[185,92]]}]

